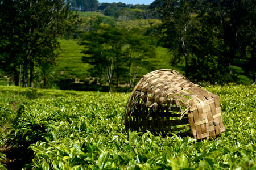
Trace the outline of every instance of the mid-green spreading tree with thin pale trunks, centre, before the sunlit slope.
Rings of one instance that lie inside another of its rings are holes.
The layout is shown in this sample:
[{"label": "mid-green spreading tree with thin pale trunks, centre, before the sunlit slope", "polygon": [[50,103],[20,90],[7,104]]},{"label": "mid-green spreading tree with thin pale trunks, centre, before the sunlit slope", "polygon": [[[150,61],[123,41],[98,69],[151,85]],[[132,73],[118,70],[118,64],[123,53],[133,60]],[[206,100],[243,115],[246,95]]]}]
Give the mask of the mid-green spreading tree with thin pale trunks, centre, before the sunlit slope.
[{"label": "mid-green spreading tree with thin pale trunks, centre, before the sunlit slope", "polygon": [[[80,45],[85,46],[82,61],[93,65],[91,76],[98,77],[100,83],[104,78],[116,88],[123,78],[133,85],[138,67],[148,65],[146,58],[154,57],[154,47],[147,41],[139,29],[111,27],[101,23],[97,29],[85,33]],[[146,63],[146,64],[145,64]]]}]

